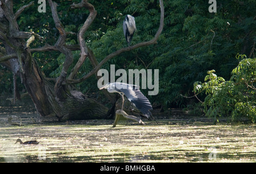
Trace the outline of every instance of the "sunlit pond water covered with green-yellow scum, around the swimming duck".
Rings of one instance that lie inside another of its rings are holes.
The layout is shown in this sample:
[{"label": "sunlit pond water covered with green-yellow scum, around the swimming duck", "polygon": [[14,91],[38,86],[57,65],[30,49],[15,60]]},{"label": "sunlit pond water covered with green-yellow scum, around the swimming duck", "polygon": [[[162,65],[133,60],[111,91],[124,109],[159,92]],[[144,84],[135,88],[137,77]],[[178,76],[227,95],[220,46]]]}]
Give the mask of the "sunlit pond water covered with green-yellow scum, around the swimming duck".
[{"label": "sunlit pond water covered with green-yellow scum, around the swimming duck", "polygon": [[[213,125],[172,113],[112,128],[114,120],[44,121],[33,103],[22,102],[0,106],[0,162],[256,162],[255,124]],[[40,143],[15,144],[18,138]]]}]

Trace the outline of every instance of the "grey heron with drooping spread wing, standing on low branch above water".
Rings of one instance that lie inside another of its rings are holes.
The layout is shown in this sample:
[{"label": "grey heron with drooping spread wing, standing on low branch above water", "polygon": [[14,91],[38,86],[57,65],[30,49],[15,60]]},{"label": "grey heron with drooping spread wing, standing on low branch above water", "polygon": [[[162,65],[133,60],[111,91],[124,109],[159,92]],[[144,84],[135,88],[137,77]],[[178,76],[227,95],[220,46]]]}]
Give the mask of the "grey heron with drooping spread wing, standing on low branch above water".
[{"label": "grey heron with drooping spread wing, standing on low branch above water", "polygon": [[155,120],[155,118],[152,116],[152,113],[149,111],[153,109],[152,105],[150,104],[150,101],[148,101],[147,97],[144,96],[139,90],[138,86],[135,86],[133,84],[115,82],[106,84],[104,87],[100,88],[100,90],[102,89],[108,89],[108,92],[110,93],[117,92],[122,95],[122,110],[123,103],[125,101],[123,95],[125,95],[127,99],[131,101],[131,103],[133,103],[135,107],[144,114],[144,116],[146,116],[150,120]]}]

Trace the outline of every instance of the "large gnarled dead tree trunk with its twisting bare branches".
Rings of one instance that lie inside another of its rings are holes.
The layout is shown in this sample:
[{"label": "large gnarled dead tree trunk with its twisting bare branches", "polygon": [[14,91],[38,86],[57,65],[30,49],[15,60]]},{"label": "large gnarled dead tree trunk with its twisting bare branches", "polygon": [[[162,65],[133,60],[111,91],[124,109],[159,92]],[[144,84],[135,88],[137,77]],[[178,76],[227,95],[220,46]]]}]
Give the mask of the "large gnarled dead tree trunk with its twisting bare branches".
[{"label": "large gnarled dead tree trunk with its twisting bare branches", "polygon": [[[97,73],[100,67],[110,58],[117,56],[123,52],[155,44],[163,29],[163,2],[160,0],[161,19],[160,27],[155,35],[155,38],[145,43],[139,43],[129,48],[123,48],[115,53],[107,56],[100,63],[95,62],[93,53],[86,48],[84,33],[96,18],[97,11],[93,5],[86,0],[82,0],[79,4],[71,5],[72,9],[85,8],[89,10],[90,15],[86,19],[84,25],[81,27],[77,38],[79,45],[65,45],[67,32],[63,28],[59,17],[57,15],[57,3],[48,0],[51,7],[52,18],[55,22],[56,28],[60,33],[59,39],[55,45],[45,45],[42,48],[30,49],[30,44],[35,40],[43,40],[42,37],[36,35],[34,32],[23,32],[19,30],[16,19],[27,8],[34,5],[34,1],[28,5],[20,7],[16,12],[13,11],[12,0],[0,0],[0,63],[9,67],[15,75],[19,75],[22,83],[26,87],[28,94],[31,96],[37,111],[40,116],[56,116],[59,120],[79,120],[91,118],[105,118],[108,113],[108,108],[83,95],[79,91],[73,91],[70,85],[83,82],[91,75]],[[67,74],[68,69],[72,65],[73,55],[72,50],[81,50],[79,61],[73,67],[71,74]],[[60,76],[56,79],[49,79],[44,77],[36,60],[32,57],[31,52],[47,52],[59,51],[65,55],[65,62]],[[82,63],[89,57],[92,62],[93,70],[86,74],[81,79],[75,79],[76,73],[79,71]],[[14,90],[15,91],[15,90]],[[106,95],[111,98],[112,96]]]}]

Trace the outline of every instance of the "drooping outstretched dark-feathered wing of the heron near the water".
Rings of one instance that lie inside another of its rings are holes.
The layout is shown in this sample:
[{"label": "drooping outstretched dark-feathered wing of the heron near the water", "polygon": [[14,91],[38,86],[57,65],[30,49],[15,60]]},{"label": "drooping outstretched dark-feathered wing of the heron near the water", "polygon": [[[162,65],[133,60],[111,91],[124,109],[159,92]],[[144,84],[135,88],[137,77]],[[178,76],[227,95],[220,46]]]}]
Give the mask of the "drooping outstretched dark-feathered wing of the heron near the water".
[{"label": "drooping outstretched dark-feathered wing of the heron near the water", "polygon": [[[123,84],[125,86],[125,84]],[[149,118],[150,120],[155,120],[155,118],[152,116],[152,113],[149,111],[152,109],[152,105],[150,104],[150,101],[147,99],[146,96],[142,94],[142,92],[135,88],[136,86],[129,86],[126,88],[119,88],[125,94],[127,99],[134,103],[135,107],[141,111],[144,116]]]}]

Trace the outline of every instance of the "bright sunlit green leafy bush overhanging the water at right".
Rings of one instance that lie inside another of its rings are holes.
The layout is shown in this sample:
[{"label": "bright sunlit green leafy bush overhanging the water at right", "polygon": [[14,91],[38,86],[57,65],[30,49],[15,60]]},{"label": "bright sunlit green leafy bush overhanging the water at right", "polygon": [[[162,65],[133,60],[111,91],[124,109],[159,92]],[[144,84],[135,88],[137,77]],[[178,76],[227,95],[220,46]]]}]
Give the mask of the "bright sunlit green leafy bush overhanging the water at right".
[{"label": "bright sunlit green leafy bush overhanging the water at right", "polygon": [[217,77],[214,70],[208,71],[205,82],[195,82],[194,91],[205,92],[204,112],[208,117],[231,116],[233,120],[247,117],[256,120],[256,59],[242,58],[226,81]]}]

